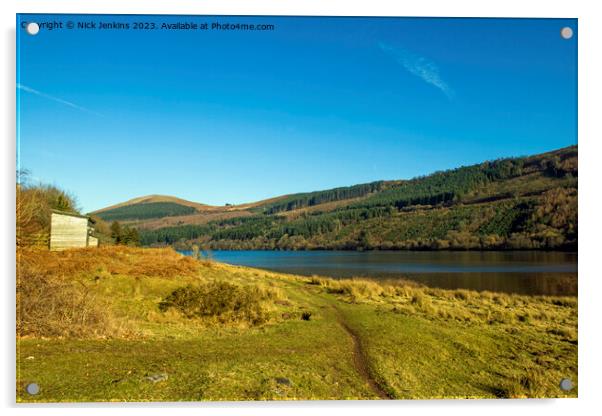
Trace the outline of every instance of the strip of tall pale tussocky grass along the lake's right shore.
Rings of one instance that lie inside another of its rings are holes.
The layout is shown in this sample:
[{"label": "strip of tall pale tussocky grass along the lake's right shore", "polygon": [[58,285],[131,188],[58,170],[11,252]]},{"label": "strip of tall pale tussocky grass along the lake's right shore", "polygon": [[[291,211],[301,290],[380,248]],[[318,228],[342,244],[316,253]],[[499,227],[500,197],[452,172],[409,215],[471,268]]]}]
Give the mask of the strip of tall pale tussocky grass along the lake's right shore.
[{"label": "strip of tall pale tussocky grass along the lake's right shore", "polygon": [[466,325],[536,326],[567,341],[576,342],[577,298],[523,296],[507,293],[447,290],[407,280],[377,282],[366,279],[335,280],[313,276],[308,284],[351,303],[384,303],[392,312],[420,315],[429,320]]}]

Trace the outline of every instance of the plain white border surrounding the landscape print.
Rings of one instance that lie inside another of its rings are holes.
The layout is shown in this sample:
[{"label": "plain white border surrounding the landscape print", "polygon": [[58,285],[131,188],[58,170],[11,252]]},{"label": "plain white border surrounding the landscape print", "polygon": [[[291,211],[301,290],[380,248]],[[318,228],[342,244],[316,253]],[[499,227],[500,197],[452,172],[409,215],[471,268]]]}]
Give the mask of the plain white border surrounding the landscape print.
[{"label": "plain white border surrounding the landscape print", "polygon": [[[3,371],[0,378],[2,404],[8,414],[116,415],[142,413],[164,416],[173,414],[297,415],[308,412],[326,414],[345,412],[363,415],[420,412],[420,414],[504,415],[508,413],[544,413],[546,415],[591,414],[602,408],[600,380],[602,345],[600,335],[600,303],[602,276],[596,263],[601,239],[599,214],[600,119],[602,64],[599,42],[602,40],[601,15],[593,1],[475,1],[415,0],[413,2],[383,0],[3,0],[2,7],[2,223],[0,256],[4,274],[2,300]],[[15,387],[15,312],[14,312],[14,177],[15,177],[15,13],[124,13],[124,14],[235,14],[235,15],[346,15],[346,16],[473,16],[473,17],[576,17],[579,18],[579,399],[565,400],[481,400],[481,401],[404,401],[374,402],[301,402],[301,403],[200,403],[146,405],[17,406]],[[599,257],[599,255],[598,255]],[[169,407],[169,410],[165,409]],[[596,411],[594,410],[596,409]]]}]

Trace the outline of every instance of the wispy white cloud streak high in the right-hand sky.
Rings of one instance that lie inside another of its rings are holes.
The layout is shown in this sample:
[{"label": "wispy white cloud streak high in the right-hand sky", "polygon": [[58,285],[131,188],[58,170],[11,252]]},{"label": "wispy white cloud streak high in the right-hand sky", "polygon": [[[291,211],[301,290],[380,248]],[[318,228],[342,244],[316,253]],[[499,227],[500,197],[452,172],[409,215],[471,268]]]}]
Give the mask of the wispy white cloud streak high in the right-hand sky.
[{"label": "wispy white cloud streak high in the right-hand sky", "polygon": [[441,79],[439,67],[433,61],[407,49],[396,48],[382,42],[378,43],[378,47],[387,55],[393,57],[410,74],[438,88],[447,98],[453,98],[454,91]]}]

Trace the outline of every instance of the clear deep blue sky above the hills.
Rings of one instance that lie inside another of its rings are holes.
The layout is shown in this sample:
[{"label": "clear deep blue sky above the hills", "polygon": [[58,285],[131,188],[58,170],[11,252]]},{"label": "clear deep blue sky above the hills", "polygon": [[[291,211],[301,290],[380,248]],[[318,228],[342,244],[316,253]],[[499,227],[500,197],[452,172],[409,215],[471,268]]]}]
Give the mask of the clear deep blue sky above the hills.
[{"label": "clear deep blue sky above the hills", "polygon": [[577,142],[575,19],[18,19],[275,26],[18,29],[19,166],[85,212],[146,194],[243,203]]}]

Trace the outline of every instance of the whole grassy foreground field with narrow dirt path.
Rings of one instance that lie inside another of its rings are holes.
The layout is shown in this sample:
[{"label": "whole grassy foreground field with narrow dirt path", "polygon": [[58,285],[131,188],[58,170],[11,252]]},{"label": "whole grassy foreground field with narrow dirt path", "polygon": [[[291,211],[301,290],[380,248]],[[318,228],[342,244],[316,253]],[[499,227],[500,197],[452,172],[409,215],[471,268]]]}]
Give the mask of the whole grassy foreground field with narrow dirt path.
[{"label": "whole grassy foreground field with narrow dirt path", "polygon": [[[305,278],[170,250],[19,259],[19,402],[577,396],[576,298]],[[188,297],[169,298],[178,289]]]}]

